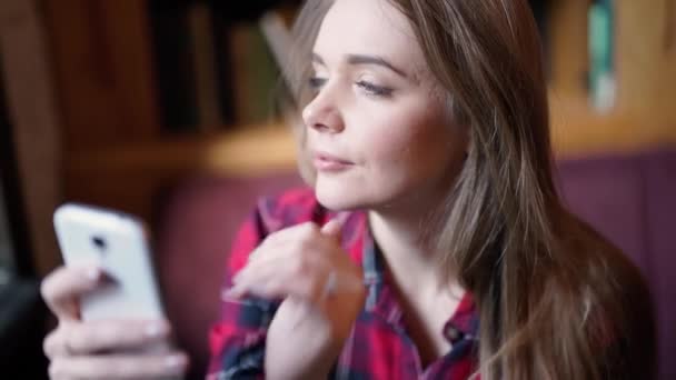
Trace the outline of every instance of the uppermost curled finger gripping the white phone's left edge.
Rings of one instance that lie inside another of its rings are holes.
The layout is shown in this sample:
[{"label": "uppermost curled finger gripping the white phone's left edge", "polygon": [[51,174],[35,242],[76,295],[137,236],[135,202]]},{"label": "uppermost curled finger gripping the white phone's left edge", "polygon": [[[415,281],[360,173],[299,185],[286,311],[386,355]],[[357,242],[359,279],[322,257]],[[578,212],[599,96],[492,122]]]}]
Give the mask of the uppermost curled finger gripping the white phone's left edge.
[{"label": "uppermost curled finger gripping the white phone's left edge", "polygon": [[42,298],[60,320],[79,319],[78,298],[97,288],[101,270],[97,267],[61,267],[41,284]]}]

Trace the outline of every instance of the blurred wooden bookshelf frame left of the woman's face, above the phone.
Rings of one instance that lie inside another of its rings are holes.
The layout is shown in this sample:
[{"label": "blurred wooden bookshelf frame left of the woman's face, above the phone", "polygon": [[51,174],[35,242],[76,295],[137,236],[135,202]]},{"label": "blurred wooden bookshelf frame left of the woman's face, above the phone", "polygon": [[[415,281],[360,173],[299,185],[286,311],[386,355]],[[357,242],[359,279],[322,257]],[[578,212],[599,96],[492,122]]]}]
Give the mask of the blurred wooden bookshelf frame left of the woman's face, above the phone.
[{"label": "blurred wooden bookshelf frame left of the woman's face, above the phone", "polygon": [[[181,177],[251,176],[295,167],[290,131],[272,119],[262,126],[215,126],[219,118],[213,116],[216,106],[211,103],[211,116],[205,118],[209,124],[199,131],[176,133],[162,124],[161,92],[167,87],[158,81],[167,76],[156,71],[156,56],[162,49],[176,51],[181,47],[173,44],[186,41],[165,40],[159,48],[153,42],[162,37],[178,39],[176,33],[167,34],[172,27],[168,22],[177,17],[185,17],[179,23],[198,21],[201,27],[207,17],[203,3],[196,9],[179,3],[42,1],[62,120],[64,198],[148,218],[156,190]],[[160,13],[151,14],[158,7]],[[183,11],[188,14],[177,16]],[[159,24],[153,23],[158,21],[153,17],[160,18]],[[201,28],[198,32],[205,37],[209,30]],[[248,46],[247,38],[239,40]],[[205,57],[197,57],[195,62],[183,63],[206,62]],[[170,66],[177,67],[180,64]],[[209,81],[197,78],[198,86]],[[207,90],[217,89],[211,86]],[[186,94],[180,96],[187,100]],[[177,107],[177,99],[172,101],[168,104]]]}]

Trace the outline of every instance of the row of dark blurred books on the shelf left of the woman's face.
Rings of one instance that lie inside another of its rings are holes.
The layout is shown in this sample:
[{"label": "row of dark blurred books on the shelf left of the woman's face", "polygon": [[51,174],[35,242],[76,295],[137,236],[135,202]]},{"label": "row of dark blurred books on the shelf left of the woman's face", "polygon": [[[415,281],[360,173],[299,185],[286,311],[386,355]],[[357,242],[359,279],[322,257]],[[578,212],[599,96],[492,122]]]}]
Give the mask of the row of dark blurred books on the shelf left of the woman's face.
[{"label": "row of dark blurred books on the shelf left of the woman's face", "polygon": [[279,52],[256,19],[233,20],[199,1],[150,1],[149,13],[166,131],[211,132],[275,119]]}]

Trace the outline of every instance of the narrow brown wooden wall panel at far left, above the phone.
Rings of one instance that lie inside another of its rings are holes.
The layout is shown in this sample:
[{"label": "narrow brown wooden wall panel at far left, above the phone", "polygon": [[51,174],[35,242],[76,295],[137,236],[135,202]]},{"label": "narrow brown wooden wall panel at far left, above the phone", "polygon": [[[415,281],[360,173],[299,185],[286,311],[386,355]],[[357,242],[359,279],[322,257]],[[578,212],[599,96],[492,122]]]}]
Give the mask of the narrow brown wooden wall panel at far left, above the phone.
[{"label": "narrow brown wooden wall panel at far left, above the phone", "polygon": [[59,261],[51,216],[61,201],[61,146],[42,20],[34,2],[0,1],[0,58],[33,262]]}]

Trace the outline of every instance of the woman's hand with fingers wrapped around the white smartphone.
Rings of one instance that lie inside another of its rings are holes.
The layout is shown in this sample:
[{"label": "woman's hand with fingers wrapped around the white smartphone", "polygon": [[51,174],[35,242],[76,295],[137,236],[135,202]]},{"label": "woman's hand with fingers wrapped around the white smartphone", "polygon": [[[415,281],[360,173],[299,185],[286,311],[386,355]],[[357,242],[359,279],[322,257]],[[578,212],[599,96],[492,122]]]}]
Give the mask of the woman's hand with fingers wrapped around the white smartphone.
[{"label": "woman's hand with fingers wrapped around the white smartphone", "polygon": [[[42,281],[42,297],[59,324],[43,342],[51,379],[157,379],[182,376],[188,358],[169,347],[166,320],[80,320],[79,299],[101,283],[96,267],[54,270]],[[146,349],[146,350],[145,350]]]}]

